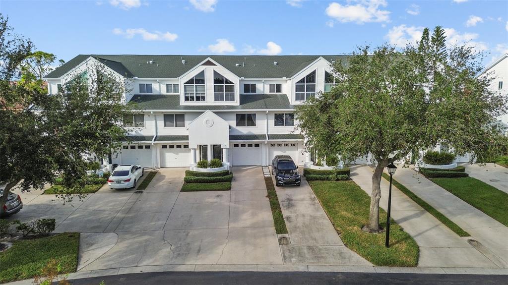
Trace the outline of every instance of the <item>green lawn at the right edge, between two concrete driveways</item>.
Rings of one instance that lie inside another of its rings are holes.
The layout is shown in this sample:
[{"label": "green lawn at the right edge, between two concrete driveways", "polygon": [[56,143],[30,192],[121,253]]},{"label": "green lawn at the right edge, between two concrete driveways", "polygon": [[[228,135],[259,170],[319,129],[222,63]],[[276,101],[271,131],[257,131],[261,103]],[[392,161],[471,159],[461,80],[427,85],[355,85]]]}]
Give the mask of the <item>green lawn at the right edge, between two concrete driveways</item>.
[{"label": "green lawn at the right edge, between two concrete driveways", "polygon": [[508,227],[508,194],[473,177],[431,181]]}]

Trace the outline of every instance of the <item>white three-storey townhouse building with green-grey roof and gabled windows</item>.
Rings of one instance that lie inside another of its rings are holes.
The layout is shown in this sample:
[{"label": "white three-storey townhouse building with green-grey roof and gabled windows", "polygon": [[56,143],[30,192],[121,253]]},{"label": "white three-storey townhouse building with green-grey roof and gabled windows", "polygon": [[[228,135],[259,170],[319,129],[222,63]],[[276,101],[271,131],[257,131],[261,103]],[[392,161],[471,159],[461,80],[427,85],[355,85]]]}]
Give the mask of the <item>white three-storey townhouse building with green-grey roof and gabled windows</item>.
[{"label": "white three-storey townhouse building with green-grey roof and gabled windows", "polygon": [[310,161],[295,105],[333,87],[341,55],[78,55],[46,76],[50,94],[102,65],[125,85],[136,114],[125,118],[131,144],[113,163],[193,167],[269,165],[275,155]]}]

